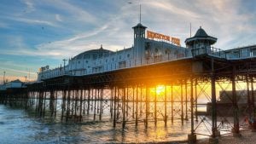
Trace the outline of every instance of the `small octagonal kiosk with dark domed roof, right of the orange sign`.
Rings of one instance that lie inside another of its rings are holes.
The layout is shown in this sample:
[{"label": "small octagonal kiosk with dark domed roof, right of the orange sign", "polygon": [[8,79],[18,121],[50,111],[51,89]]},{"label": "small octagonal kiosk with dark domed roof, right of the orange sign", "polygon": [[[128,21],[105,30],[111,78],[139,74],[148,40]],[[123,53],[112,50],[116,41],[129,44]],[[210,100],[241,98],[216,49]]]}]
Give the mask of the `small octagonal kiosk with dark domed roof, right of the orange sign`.
[{"label": "small octagonal kiosk with dark domed roof, right of the orange sign", "polygon": [[204,29],[200,28],[194,37],[185,40],[187,48],[191,49],[192,55],[201,55],[211,53],[211,45],[217,42],[216,37],[207,35]]}]

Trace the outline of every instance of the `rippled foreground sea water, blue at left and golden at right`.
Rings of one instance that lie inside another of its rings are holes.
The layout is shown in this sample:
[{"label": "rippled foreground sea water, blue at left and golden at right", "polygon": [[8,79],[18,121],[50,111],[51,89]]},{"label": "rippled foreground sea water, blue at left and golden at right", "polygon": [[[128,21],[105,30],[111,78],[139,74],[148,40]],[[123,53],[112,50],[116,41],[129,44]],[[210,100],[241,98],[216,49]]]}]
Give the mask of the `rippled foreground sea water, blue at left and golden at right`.
[{"label": "rippled foreground sea water, blue at left and golden at right", "polygon": [[0,105],[0,143],[120,143],[149,141],[181,141],[187,139],[190,124],[180,120],[148,124],[118,124],[113,129],[110,121],[61,123],[55,118],[35,118],[34,111],[25,111]]}]

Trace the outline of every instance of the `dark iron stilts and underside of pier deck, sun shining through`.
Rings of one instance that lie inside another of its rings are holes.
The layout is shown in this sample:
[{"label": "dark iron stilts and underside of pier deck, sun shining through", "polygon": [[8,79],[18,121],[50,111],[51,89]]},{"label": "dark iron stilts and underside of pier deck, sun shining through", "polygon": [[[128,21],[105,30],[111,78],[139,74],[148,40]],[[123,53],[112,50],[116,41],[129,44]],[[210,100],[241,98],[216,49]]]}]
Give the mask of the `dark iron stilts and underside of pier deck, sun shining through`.
[{"label": "dark iron stilts and underside of pier deck, sun shining through", "polygon": [[[26,88],[2,90],[0,98],[1,103],[11,107],[33,108],[42,118],[45,115],[54,118],[56,112],[61,112],[63,122],[110,119],[113,127],[121,124],[125,129],[126,124],[147,127],[148,123],[159,121],[165,124],[189,121],[189,143],[195,143],[196,135],[208,135],[216,143],[224,130],[219,126],[219,118],[225,118],[225,113],[217,111],[218,90],[232,91],[229,100],[234,114],[229,130],[239,136],[240,130],[245,129],[241,128],[239,118],[255,117],[255,72],[253,56],[227,59],[202,54],[85,76],[63,74],[42,83],[27,84]],[[236,91],[242,89],[247,90],[247,111],[241,113]],[[198,101],[201,98],[211,103],[210,122],[206,115],[198,113],[199,106],[207,105]],[[205,123],[211,124],[209,134],[198,133],[197,128]],[[255,131],[255,127],[250,129]]]}]

